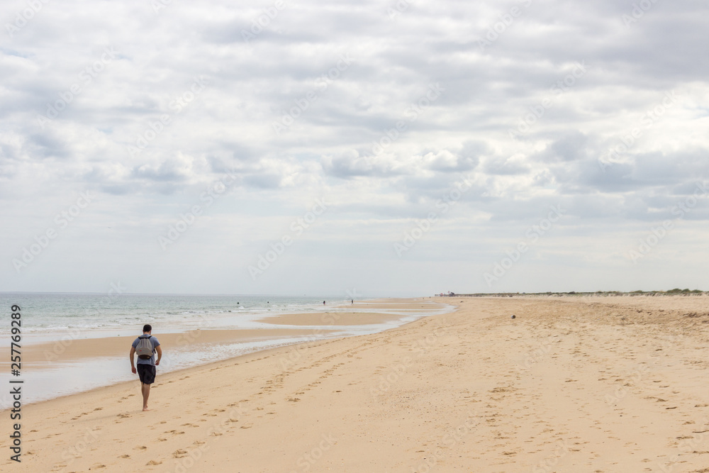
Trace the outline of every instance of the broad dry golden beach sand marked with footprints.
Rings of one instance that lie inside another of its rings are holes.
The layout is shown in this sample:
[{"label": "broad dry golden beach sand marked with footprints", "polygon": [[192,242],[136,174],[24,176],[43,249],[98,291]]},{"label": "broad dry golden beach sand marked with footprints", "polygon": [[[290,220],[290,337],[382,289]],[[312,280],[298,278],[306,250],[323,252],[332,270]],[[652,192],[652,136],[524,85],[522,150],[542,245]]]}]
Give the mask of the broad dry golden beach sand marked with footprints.
[{"label": "broad dry golden beach sand marked with footprints", "polygon": [[21,463],[4,411],[1,469],[709,471],[708,297],[442,299],[458,310],[158,372],[146,413],[137,381],[23,406]]}]

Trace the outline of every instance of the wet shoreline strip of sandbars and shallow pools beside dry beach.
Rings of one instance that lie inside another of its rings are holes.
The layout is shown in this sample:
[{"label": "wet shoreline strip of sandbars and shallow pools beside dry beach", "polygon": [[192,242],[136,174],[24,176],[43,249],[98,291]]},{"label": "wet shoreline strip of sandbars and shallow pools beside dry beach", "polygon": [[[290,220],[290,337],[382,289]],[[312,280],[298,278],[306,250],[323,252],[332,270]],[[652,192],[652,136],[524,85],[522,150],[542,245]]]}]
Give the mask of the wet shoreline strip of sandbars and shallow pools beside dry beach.
[{"label": "wet shoreline strip of sandbars and shallow pools beside dry beach", "polygon": [[[428,313],[438,313],[451,307],[450,304],[437,302],[420,304],[423,299],[413,300],[419,301],[413,304],[415,308],[423,308]],[[350,306],[339,305],[331,306],[328,311],[266,314],[253,318],[249,324],[265,328],[205,328],[177,333],[155,333],[153,330],[164,347],[158,374],[182,372],[279,347],[350,338],[358,333],[378,333],[408,323],[402,322],[407,318],[428,316],[415,313],[411,301],[403,304],[398,299],[394,299],[393,303],[380,299],[362,301],[354,307],[360,310],[366,308],[367,312],[348,312]],[[378,308],[381,312],[375,312]],[[389,313],[392,310],[398,315]],[[128,367],[126,358],[130,342],[138,335],[125,336],[124,330],[116,330],[115,333],[118,335],[69,338],[63,342],[45,341],[23,346],[23,376],[35,384],[34,396],[26,399],[24,404],[35,405],[137,379],[137,375],[131,374],[130,369],[125,367]],[[5,367],[4,372],[9,372],[9,362],[0,362],[0,367]],[[105,378],[105,373],[111,373],[110,377]],[[72,380],[82,382],[82,377],[92,378],[91,382],[84,381],[79,387],[72,384]],[[9,374],[0,375],[0,382],[5,378],[9,379]],[[96,378],[98,380],[94,381]],[[37,386],[40,386],[40,392],[36,391]],[[10,404],[9,394],[0,396],[0,408]]]}]

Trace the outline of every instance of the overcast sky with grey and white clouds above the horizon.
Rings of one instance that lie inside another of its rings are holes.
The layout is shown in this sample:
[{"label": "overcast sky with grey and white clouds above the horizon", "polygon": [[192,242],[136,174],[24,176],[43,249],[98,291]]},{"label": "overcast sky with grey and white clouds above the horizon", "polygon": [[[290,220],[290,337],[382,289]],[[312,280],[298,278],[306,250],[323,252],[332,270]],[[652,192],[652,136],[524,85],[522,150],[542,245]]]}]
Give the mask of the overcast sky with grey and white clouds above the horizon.
[{"label": "overcast sky with grey and white clouds above the horizon", "polygon": [[4,1],[0,291],[709,289],[708,13]]}]

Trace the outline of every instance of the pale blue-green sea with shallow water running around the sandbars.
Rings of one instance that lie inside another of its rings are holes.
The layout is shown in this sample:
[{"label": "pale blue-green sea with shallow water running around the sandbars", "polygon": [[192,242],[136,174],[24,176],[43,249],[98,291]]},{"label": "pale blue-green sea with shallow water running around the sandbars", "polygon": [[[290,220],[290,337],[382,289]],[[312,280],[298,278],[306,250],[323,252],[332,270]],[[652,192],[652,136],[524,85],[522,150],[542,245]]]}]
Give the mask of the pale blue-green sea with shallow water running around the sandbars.
[{"label": "pale blue-green sea with shallow water running around the sandbars", "polygon": [[[325,305],[323,301],[326,301]],[[121,336],[127,338],[125,355],[116,357],[96,353],[96,357],[81,361],[59,362],[54,360],[50,350],[46,360],[23,365],[21,376],[13,377],[9,357],[12,335],[10,312],[13,305],[21,308],[22,347],[53,343],[53,351],[60,353],[62,347],[70,345],[73,340]],[[189,333],[198,328],[257,329],[264,333],[259,340],[240,343],[171,347],[169,357],[164,357],[159,368],[159,373],[164,373],[294,343],[377,333],[450,310],[452,308],[449,306],[418,311],[378,309],[377,312],[393,314],[398,318],[376,325],[296,327],[263,323],[259,319],[286,313],[368,312],[371,309],[351,308],[350,299],[330,300],[314,296],[0,293],[0,312],[5,314],[2,319],[6,321],[0,325],[0,340],[8,349],[7,359],[0,359],[0,365],[6,366],[0,372],[0,382],[23,379],[23,403],[28,403],[134,379],[128,364],[129,340],[140,335],[145,323],[153,326],[153,334],[158,337],[159,333]],[[308,329],[311,332],[310,335],[283,336],[284,328],[298,328],[301,332]],[[275,334],[277,329],[281,329],[280,335],[269,335],[269,330]],[[330,331],[325,335],[323,330]],[[9,396],[0,395],[0,408],[10,405]]]}]

